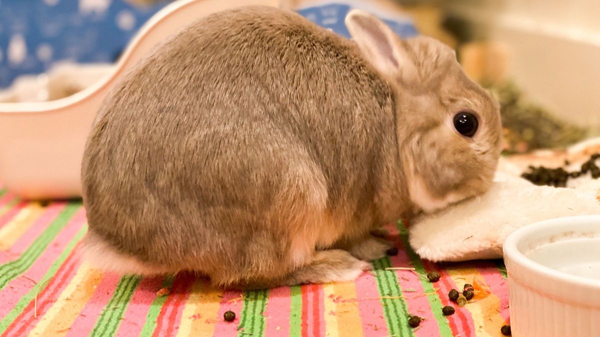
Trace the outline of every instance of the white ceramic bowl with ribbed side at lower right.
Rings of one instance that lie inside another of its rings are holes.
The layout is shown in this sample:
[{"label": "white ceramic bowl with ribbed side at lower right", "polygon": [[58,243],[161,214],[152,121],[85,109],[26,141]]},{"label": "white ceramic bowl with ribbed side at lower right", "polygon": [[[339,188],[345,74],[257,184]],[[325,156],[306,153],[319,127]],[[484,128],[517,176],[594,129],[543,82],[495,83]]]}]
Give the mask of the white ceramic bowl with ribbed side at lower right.
[{"label": "white ceramic bowl with ribbed side at lower right", "polygon": [[527,225],[503,249],[513,336],[600,336],[600,215]]}]

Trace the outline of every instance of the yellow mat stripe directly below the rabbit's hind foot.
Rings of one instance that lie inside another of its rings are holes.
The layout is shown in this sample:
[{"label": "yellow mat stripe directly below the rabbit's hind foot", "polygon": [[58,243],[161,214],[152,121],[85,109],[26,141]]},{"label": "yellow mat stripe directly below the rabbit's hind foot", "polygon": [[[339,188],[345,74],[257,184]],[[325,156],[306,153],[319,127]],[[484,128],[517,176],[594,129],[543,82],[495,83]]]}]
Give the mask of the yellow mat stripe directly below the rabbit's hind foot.
[{"label": "yellow mat stripe directly below the rabbit's hind foot", "polygon": [[[356,284],[344,282],[335,284],[335,293],[341,299],[356,299]],[[362,337],[361,314],[358,311],[358,302],[338,302],[335,310],[338,332],[340,336]]]}]

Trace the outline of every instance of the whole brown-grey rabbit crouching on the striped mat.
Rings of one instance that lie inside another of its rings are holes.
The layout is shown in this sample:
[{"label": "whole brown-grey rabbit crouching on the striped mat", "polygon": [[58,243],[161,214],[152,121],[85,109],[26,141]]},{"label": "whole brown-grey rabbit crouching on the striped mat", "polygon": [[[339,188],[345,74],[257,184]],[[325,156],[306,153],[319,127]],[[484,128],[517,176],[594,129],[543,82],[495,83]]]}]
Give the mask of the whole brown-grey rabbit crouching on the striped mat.
[{"label": "whole brown-grey rabbit crouching on the striped mat", "polygon": [[433,38],[361,10],[352,40],[290,11],[211,14],[107,96],[82,162],[91,266],[218,287],[356,279],[403,216],[484,193],[496,101]]}]

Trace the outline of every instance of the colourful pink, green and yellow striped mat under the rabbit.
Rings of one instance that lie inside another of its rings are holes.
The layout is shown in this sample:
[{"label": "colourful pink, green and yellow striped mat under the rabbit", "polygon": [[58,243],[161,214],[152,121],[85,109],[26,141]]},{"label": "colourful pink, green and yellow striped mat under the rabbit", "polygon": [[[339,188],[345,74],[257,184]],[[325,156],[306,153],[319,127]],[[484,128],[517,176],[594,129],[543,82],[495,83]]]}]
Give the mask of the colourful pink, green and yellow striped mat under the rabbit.
[{"label": "colourful pink, green and yellow striped mat under the rabbit", "polygon": [[[0,187],[1,188],[1,187]],[[356,282],[263,291],[221,291],[188,273],[119,277],[82,264],[80,201],[27,203],[0,189],[2,336],[500,336],[508,320],[502,261],[420,260],[401,222],[389,227],[400,253],[373,261]],[[386,267],[415,270],[385,270]],[[422,275],[437,270],[439,282]],[[454,315],[448,291],[465,283],[489,293]],[[237,314],[223,320],[225,311]],[[408,316],[424,318],[416,329]]]}]

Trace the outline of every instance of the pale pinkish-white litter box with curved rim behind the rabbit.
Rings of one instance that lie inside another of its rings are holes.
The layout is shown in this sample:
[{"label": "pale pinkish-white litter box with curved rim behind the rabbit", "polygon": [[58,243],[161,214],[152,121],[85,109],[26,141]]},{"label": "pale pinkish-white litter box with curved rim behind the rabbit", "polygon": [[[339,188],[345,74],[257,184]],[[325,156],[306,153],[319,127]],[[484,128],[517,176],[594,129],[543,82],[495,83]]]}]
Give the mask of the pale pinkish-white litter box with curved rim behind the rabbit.
[{"label": "pale pinkish-white litter box with curved rim behind the rabbit", "polygon": [[104,97],[122,74],[164,38],[200,17],[240,5],[277,6],[278,0],[181,0],[153,16],[115,69],[61,100],[0,103],[0,180],[22,198],[80,197],[83,148]]}]

